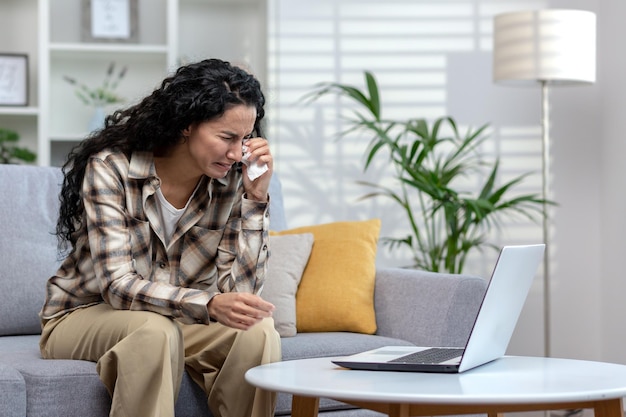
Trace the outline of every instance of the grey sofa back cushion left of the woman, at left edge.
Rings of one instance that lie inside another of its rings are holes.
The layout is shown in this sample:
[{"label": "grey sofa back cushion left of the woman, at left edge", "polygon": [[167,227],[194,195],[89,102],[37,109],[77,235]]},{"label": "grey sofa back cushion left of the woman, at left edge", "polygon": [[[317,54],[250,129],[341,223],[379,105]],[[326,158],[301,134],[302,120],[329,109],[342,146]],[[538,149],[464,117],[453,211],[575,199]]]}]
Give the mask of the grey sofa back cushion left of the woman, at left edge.
[{"label": "grey sofa back cushion left of the woman, at left edge", "polygon": [[59,265],[61,170],[0,165],[0,335],[36,334],[45,282]]}]

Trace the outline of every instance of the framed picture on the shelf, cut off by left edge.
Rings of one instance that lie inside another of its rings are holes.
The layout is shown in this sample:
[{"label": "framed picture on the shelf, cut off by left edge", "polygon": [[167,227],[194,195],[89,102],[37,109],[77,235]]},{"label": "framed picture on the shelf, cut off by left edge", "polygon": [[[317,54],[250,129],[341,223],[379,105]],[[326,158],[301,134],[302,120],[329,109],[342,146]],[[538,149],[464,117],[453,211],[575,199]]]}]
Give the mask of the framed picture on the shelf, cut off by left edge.
[{"label": "framed picture on the shelf, cut off by left edge", "polygon": [[0,106],[28,105],[28,55],[0,53]]}]

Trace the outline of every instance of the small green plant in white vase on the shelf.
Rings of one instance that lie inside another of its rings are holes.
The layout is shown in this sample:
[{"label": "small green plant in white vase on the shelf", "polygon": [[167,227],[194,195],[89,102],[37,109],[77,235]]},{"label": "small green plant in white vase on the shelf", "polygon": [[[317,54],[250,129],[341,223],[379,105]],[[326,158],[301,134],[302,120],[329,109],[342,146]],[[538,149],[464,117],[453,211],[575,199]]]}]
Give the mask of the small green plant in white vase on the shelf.
[{"label": "small green plant in white vase on the shelf", "polygon": [[94,108],[94,115],[89,123],[90,131],[101,128],[104,125],[105,106],[124,102],[125,99],[117,94],[116,90],[120,81],[124,79],[126,71],[127,67],[124,66],[116,73],[115,62],[111,62],[107,68],[102,84],[94,88],[88,87],[68,75],[63,76],[65,81],[76,88],[74,90],[76,97],[86,106]]}]

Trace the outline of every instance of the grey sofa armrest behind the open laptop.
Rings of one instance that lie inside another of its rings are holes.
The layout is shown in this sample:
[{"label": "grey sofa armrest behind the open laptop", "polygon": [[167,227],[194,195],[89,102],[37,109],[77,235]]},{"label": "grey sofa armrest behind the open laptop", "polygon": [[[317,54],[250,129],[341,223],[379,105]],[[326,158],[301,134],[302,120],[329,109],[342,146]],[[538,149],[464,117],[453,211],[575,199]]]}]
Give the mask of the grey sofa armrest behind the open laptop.
[{"label": "grey sofa armrest behind the open laptop", "polygon": [[378,269],[376,333],[418,346],[465,346],[486,287],[470,275]]}]

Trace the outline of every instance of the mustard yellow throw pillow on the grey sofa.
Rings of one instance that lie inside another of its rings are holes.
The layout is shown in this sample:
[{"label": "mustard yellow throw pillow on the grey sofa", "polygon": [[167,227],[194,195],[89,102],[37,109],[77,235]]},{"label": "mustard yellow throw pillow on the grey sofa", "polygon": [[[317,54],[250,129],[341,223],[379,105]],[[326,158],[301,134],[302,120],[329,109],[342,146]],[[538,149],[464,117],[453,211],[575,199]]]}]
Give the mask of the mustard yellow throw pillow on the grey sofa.
[{"label": "mustard yellow throw pillow on the grey sofa", "polygon": [[296,293],[298,332],[376,332],[374,280],[380,219],[271,232],[312,233],[313,250]]}]

